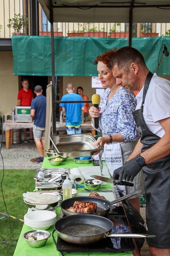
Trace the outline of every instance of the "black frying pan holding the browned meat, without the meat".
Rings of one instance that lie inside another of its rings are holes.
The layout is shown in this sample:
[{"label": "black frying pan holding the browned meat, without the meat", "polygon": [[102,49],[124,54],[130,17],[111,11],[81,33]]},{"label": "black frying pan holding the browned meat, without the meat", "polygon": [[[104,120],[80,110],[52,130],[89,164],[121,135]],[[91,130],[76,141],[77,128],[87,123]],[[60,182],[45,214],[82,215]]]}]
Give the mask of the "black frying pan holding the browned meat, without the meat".
[{"label": "black frying pan holding the browned meat, without the meat", "polygon": [[[106,216],[107,213],[110,211],[110,207],[112,204],[118,203],[122,201],[123,199],[129,198],[131,196],[137,195],[141,191],[137,191],[134,193],[130,193],[126,196],[122,196],[114,201],[108,201],[106,199],[98,198],[98,197],[92,197],[92,196],[78,196],[78,197],[73,197],[64,200],[61,203],[61,209],[62,212],[64,213],[65,216],[70,216],[70,215],[77,215],[77,214],[82,214],[82,213],[75,213],[75,212],[68,212],[66,209],[70,208],[70,206],[73,206],[75,201],[81,201],[81,202],[93,202],[97,204],[97,211],[94,213],[90,213],[91,215],[100,215],[100,216]],[[86,213],[87,214],[87,213]]]}]

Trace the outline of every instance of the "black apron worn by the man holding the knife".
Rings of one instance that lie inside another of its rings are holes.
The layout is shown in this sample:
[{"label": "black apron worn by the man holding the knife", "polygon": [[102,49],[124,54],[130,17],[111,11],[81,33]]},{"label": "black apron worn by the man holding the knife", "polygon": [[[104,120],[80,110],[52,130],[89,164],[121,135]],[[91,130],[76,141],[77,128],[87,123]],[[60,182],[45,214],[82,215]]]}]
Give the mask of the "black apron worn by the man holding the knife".
[{"label": "black apron worn by the man holding the knife", "polygon": [[[160,140],[159,136],[147,128],[143,116],[144,100],[152,76],[149,72],[146,77],[141,108],[133,112],[137,127],[142,132],[142,152]],[[170,248],[170,155],[145,165],[142,170],[145,176],[146,231],[150,235],[156,235],[154,238],[147,238],[147,243],[162,249]]]}]

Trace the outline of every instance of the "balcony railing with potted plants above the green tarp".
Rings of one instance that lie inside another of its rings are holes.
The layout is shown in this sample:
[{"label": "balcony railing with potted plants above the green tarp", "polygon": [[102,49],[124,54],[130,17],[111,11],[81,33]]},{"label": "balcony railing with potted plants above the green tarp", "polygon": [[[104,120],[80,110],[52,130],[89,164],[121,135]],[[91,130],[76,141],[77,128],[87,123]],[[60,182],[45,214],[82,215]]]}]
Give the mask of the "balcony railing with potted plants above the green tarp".
[{"label": "balcony railing with potted plants above the green tarp", "polygon": [[[35,0],[37,1],[37,0]],[[38,3],[38,2],[37,2]],[[30,0],[0,0],[0,38],[32,35]],[[50,23],[39,4],[39,35],[50,36]],[[31,16],[32,14],[32,16]],[[54,23],[54,36],[128,38],[129,23]],[[170,23],[133,23],[133,37],[170,36]]]}]

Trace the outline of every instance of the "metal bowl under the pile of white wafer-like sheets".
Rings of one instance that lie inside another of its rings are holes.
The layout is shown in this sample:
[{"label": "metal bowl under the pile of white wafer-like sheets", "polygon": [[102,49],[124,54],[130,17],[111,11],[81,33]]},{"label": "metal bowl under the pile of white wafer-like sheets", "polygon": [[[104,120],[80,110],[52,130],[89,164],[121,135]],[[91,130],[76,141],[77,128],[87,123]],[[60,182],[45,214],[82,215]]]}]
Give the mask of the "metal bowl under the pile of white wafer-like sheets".
[{"label": "metal bowl under the pile of white wafer-like sheets", "polygon": [[[36,192],[35,192],[36,193]],[[37,208],[38,210],[47,210],[47,209],[49,209],[50,207],[55,207],[55,206],[57,206],[57,204],[58,204],[58,202],[59,201],[61,201],[62,200],[62,197],[61,197],[61,195],[59,195],[58,193],[56,194],[56,193],[46,193],[46,195],[49,195],[49,196],[56,196],[56,201],[55,201],[55,203],[52,203],[52,204],[31,204],[30,202],[28,202],[28,201],[26,201],[26,200],[24,200],[24,203],[26,203],[27,204],[27,206],[29,207],[29,208]]]}]

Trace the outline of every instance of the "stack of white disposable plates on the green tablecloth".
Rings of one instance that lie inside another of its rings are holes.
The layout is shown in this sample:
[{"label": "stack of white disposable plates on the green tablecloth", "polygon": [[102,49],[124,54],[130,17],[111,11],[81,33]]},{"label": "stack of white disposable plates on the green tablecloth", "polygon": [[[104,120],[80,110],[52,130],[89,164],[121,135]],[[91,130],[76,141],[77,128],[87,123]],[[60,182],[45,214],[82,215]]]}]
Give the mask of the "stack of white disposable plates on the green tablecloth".
[{"label": "stack of white disposable plates on the green tablecloth", "polygon": [[46,230],[56,222],[56,213],[51,211],[33,211],[24,215],[24,223],[32,229]]}]

